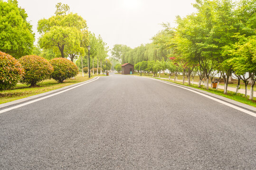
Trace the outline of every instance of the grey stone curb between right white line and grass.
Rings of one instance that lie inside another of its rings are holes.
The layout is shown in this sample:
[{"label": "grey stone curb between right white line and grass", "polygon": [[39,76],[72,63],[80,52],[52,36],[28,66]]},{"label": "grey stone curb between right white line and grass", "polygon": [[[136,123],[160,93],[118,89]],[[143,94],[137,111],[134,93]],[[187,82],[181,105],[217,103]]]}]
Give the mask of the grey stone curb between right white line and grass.
[{"label": "grey stone curb between right white line and grass", "polygon": [[165,82],[165,83],[169,83],[169,84],[172,84],[172,85],[178,85],[178,86],[181,86],[181,87],[184,87],[184,88],[188,88],[190,90],[194,90],[194,91],[197,91],[199,93],[204,93],[206,95],[209,95],[211,97],[217,98],[217,99],[222,100],[224,102],[228,102],[230,104],[236,105],[236,106],[244,108],[246,110],[251,110],[251,111],[256,112],[256,108],[253,107],[253,106],[250,106],[250,105],[247,105],[247,104],[244,104],[244,103],[241,103],[241,102],[237,102],[237,101],[234,101],[232,99],[228,99],[228,98],[220,96],[218,94],[210,93],[210,92],[207,92],[207,91],[204,91],[204,90],[200,90],[200,89],[197,89],[197,88],[193,88],[193,87],[190,87],[190,86],[186,86],[186,85],[180,85],[180,84],[172,83],[172,82],[165,81],[165,80],[158,79],[158,78],[154,78],[154,77],[143,77],[143,78],[156,79],[156,80],[159,80],[159,81],[162,81],[162,82]]}]

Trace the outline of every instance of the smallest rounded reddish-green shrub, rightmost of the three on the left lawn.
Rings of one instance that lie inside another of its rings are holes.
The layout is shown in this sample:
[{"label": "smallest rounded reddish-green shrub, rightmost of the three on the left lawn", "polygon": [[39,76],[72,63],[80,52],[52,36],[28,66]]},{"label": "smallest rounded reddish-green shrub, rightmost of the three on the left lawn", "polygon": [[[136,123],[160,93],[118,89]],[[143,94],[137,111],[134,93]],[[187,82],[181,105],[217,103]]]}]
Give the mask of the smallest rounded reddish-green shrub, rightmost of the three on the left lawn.
[{"label": "smallest rounded reddish-green shrub, rightmost of the three on the left lawn", "polygon": [[50,60],[50,63],[54,68],[51,77],[60,83],[78,74],[78,68],[68,59],[54,58]]}]

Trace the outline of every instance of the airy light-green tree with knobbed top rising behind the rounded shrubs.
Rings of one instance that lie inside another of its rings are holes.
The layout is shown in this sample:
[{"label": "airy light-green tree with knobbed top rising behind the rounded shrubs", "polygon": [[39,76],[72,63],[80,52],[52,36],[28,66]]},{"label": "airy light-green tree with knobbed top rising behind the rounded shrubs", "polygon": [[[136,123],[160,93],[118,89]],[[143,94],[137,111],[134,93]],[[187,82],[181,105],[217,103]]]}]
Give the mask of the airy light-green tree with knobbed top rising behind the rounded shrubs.
[{"label": "airy light-green tree with knobbed top rising behind the rounded shrubs", "polygon": [[69,7],[65,4],[58,3],[56,8],[56,16],[38,21],[38,32],[41,34],[38,43],[43,49],[60,51],[62,58],[70,57],[73,60],[83,53],[82,30],[87,28],[86,21],[77,14],[66,14]]}]

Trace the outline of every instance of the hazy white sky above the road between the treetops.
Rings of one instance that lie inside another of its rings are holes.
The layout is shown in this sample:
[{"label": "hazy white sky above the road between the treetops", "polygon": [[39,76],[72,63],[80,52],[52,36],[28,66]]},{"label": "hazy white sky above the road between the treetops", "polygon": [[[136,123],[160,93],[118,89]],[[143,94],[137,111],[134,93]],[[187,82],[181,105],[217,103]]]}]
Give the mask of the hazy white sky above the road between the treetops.
[{"label": "hazy white sky above the road between the treetops", "polygon": [[148,43],[162,29],[162,22],[174,25],[175,16],[195,12],[191,3],[195,0],[18,0],[25,8],[28,21],[33,26],[36,42],[39,37],[37,23],[55,12],[58,2],[68,4],[70,12],[87,21],[88,29],[101,34],[110,48],[114,44],[126,44],[132,48]]}]

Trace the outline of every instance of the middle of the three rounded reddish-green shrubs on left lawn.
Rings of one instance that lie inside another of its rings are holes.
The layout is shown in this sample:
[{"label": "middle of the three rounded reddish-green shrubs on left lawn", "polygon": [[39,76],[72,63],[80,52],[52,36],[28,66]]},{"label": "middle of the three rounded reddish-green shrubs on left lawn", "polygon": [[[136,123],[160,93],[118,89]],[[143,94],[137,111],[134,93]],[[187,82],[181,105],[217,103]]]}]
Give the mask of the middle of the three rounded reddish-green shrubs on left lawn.
[{"label": "middle of the three rounded reddish-green shrubs on left lawn", "polygon": [[19,62],[25,70],[25,74],[20,80],[23,84],[35,86],[39,82],[49,79],[53,72],[49,61],[36,55],[23,56]]}]

